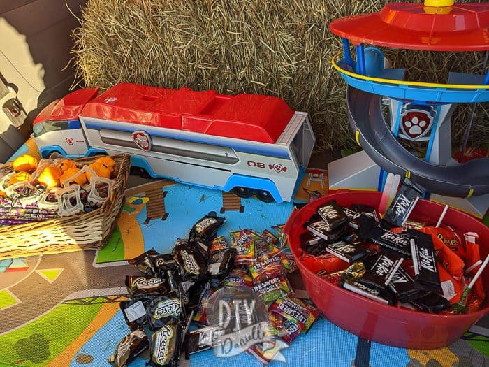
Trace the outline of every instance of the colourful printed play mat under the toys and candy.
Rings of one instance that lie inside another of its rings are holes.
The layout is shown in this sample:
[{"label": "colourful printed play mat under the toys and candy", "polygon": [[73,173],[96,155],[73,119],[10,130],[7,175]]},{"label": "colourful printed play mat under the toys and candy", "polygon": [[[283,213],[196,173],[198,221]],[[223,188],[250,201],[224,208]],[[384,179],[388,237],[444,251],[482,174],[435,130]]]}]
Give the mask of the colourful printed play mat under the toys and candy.
[{"label": "colourful printed play mat under the toys and candy", "polygon": [[[30,149],[28,142],[20,153]],[[325,194],[327,172],[305,173],[297,201],[307,199],[302,187]],[[240,199],[171,180],[130,187],[103,250],[0,261],[0,366],[110,366],[107,358],[129,333],[119,310],[119,301],[126,298],[124,276],[138,273],[126,259],[152,247],[169,252],[177,238],[210,212],[226,218],[218,233],[226,236],[283,224],[292,210],[292,203]],[[404,350],[369,343],[321,319],[282,354],[289,366],[488,366],[488,336],[489,320],[483,319],[448,347]],[[145,366],[148,358],[143,353],[129,366]],[[217,358],[208,350],[180,363],[218,367],[257,362],[247,354]]]}]

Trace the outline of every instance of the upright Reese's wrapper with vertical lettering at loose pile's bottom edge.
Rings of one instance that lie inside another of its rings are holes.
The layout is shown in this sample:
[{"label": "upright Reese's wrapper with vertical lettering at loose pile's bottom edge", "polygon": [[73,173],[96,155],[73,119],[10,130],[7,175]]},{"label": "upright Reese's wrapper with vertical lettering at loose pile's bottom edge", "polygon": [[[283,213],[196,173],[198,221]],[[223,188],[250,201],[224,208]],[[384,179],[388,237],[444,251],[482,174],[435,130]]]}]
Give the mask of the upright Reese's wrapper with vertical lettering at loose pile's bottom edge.
[{"label": "upright Reese's wrapper with vertical lettering at loose pile's bottom edge", "polygon": [[151,363],[153,366],[178,366],[182,327],[164,325],[151,338]]}]

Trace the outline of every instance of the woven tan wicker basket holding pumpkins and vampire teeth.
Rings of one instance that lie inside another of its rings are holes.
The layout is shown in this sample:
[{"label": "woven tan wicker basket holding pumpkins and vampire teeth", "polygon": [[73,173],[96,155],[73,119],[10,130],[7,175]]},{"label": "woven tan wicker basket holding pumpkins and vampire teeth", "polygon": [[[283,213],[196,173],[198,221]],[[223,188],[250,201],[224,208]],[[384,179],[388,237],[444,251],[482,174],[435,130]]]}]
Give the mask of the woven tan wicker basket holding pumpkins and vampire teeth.
[{"label": "woven tan wicker basket holding pumpkins and vampire teeth", "polygon": [[[122,208],[131,167],[129,155],[111,157],[119,166],[119,173],[110,196],[100,208],[55,220],[0,227],[0,259],[101,249],[108,242]],[[73,160],[80,164],[90,164],[97,158]]]}]

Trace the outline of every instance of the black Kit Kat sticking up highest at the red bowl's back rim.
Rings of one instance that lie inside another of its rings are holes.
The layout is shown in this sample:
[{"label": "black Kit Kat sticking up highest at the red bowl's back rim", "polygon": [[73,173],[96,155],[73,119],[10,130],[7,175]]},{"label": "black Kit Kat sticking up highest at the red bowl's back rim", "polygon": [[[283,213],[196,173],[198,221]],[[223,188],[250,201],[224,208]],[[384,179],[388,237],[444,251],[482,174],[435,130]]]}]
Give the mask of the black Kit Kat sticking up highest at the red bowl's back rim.
[{"label": "black Kit Kat sticking up highest at the red bowl's back rim", "polygon": [[391,226],[402,226],[423,194],[425,194],[425,190],[421,186],[416,185],[408,178],[404,178],[401,188],[387,208],[382,222],[387,222]]}]

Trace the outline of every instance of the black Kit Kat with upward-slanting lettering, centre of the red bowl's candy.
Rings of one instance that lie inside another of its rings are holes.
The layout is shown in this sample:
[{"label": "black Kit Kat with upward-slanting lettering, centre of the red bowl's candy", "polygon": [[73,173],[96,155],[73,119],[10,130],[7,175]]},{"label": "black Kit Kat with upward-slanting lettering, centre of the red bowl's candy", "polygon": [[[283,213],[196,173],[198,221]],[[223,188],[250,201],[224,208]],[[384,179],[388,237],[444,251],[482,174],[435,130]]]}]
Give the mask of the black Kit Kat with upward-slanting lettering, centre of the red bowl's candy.
[{"label": "black Kit Kat with upward-slanting lettering, centre of the red bowl's candy", "polygon": [[366,271],[362,280],[377,287],[385,288],[391,282],[402,261],[404,261],[404,257],[401,254],[383,249],[370,257],[368,261],[363,261]]}]

